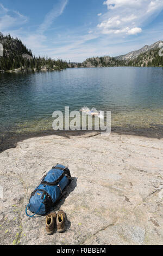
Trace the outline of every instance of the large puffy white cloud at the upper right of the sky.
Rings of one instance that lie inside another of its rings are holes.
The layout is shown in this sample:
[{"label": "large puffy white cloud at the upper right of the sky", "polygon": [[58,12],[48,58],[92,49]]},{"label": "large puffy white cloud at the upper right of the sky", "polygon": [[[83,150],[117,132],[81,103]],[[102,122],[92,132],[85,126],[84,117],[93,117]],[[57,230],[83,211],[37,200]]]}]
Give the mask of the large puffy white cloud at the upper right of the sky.
[{"label": "large puffy white cloud at the upper right of the sky", "polygon": [[106,0],[108,13],[97,25],[102,34],[134,35],[163,9],[162,0]]}]

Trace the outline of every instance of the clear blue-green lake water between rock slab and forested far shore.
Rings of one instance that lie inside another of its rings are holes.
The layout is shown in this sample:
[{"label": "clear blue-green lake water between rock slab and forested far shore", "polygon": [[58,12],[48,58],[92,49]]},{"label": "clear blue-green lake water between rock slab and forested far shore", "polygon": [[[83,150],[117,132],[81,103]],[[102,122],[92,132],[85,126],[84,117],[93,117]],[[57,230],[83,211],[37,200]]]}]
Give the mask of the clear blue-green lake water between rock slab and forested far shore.
[{"label": "clear blue-green lake water between rock slab and forested far shore", "polygon": [[110,110],[112,130],[163,131],[162,68],[79,68],[0,78],[1,136],[52,129],[53,111],[65,106]]}]

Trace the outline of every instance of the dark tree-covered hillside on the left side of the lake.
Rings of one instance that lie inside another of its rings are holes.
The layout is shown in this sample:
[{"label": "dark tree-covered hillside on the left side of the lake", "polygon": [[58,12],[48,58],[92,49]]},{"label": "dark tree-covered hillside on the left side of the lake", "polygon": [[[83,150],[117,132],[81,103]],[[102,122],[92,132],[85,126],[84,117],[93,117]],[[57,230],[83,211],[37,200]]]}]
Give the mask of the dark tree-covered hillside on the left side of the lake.
[{"label": "dark tree-covered hillside on the left side of the lake", "polygon": [[0,32],[0,43],[3,45],[3,56],[0,57],[0,72],[27,72],[61,70],[68,67],[66,61],[47,57],[35,57],[31,50],[18,38]]}]

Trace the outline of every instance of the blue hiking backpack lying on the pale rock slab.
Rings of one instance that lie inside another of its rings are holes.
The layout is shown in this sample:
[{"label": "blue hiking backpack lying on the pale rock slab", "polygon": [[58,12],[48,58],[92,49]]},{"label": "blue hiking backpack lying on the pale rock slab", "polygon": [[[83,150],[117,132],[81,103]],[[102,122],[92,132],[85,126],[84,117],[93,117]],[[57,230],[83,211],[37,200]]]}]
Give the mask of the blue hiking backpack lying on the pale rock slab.
[{"label": "blue hiking backpack lying on the pale rock slab", "polygon": [[[52,167],[38,187],[32,192],[29,204],[26,208],[26,215],[34,217],[46,215],[54,208],[55,203],[62,197],[64,188],[71,182],[70,170],[61,164]],[[34,213],[28,215],[27,210]]]}]

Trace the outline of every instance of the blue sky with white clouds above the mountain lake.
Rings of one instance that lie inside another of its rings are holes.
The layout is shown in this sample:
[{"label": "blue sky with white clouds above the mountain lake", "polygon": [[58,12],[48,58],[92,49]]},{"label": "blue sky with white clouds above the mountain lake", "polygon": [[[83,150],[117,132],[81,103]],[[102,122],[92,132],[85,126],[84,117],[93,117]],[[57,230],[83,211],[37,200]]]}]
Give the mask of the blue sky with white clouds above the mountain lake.
[{"label": "blue sky with white clouds above the mountain lake", "polygon": [[35,56],[118,56],[163,40],[163,0],[0,0],[0,31]]}]

